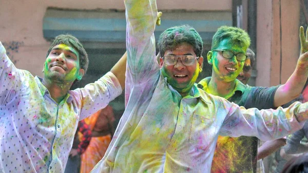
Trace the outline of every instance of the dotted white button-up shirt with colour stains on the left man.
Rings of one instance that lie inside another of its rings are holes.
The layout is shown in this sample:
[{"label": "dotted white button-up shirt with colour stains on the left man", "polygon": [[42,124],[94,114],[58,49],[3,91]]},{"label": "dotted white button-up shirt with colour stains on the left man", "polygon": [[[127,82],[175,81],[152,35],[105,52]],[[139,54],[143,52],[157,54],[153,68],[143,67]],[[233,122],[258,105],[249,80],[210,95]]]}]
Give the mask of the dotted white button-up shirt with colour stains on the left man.
[{"label": "dotted white button-up shirt with colour stains on the left man", "polygon": [[57,104],[41,80],[17,69],[0,42],[0,172],[64,172],[79,120],[122,92],[109,72]]}]

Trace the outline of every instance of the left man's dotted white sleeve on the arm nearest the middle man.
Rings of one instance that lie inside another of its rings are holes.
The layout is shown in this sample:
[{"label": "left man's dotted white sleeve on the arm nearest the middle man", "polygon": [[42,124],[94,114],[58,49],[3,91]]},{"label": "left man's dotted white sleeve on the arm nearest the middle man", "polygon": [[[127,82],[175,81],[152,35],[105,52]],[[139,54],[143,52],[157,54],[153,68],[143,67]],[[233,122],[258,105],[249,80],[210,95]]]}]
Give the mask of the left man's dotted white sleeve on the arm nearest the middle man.
[{"label": "left man's dotted white sleeve on the arm nearest the middle man", "polygon": [[98,81],[74,91],[79,92],[81,97],[80,120],[83,120],[106,107],[122,93],[122,88],[117,77],[112,72],[108,72]]}]

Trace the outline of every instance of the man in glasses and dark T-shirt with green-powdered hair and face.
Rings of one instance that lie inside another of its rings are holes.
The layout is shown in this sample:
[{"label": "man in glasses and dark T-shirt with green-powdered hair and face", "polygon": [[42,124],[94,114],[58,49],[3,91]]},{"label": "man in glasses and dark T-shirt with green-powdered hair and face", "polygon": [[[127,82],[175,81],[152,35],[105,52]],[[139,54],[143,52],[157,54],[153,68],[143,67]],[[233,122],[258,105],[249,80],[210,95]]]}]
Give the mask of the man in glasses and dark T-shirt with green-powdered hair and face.
[{"label": "man in glasses and dark T-shirt with green-powdered hair and face", "polygon": [[[300,94],[308,75],[308,42],[303,27],[300,28],[300,40],[301,56],[285,84],[269,88],[250,87],[236,79],[243,70],[247,56],[245,52],[250,45],[249,36],[240,28],[220,27],[207,53],[207,61],[213,65],[212,75],[201,80],[198,87],[246,109],[276,108],[290,102]],[[256,172],[257,153],[256,137],[219,136],[211,172]]]}]

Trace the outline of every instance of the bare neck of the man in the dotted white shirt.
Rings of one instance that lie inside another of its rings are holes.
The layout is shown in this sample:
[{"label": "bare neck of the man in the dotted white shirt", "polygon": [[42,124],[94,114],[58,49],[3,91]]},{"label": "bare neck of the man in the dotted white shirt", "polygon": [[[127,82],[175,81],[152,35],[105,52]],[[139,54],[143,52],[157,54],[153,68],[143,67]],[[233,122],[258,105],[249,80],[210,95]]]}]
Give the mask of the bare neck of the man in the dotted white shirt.
[{"label": "bare neck of the man in the dotted white shirt", "polygon": [[50,97],[59,104],[67,94],[69,88],[72,86],[73,83],[61,83],[46,80],[45,78],[42,81],[43,85],[48,89],[50,93]]}]

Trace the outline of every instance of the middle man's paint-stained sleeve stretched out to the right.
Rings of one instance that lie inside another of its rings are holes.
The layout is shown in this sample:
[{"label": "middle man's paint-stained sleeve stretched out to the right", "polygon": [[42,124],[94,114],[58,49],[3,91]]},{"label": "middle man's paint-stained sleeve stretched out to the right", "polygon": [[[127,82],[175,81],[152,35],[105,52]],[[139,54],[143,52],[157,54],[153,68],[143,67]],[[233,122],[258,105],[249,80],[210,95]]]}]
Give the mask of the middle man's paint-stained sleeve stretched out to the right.
[{"label": "middle man's paint-stained sleeve stretched out to the right", "polygon": [[222,124],[220,135],[239,137],[254,136],[260,140],[274,140],[302,128],[304,122],[297,118],[307,119],[308,103],[295,102],[288,108],[245,109],[235,103],[221,98],[227,116]]}]

